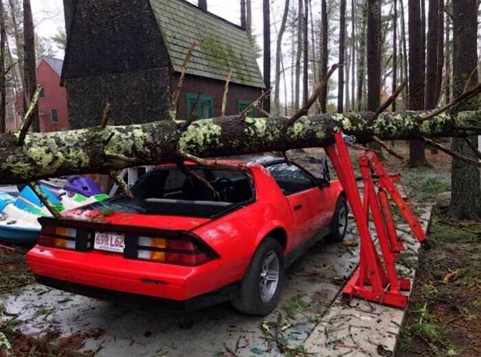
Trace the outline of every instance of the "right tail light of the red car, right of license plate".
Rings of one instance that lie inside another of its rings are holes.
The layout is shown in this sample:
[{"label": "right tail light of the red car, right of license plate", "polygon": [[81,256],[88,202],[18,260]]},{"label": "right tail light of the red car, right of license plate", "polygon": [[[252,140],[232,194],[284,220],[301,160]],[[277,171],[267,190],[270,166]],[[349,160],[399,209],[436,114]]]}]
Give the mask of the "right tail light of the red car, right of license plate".
[{"label": "right tail light of the red car, right of license plate", "polygon": [[124,256],[179,266],[200,266],[218,257],[200,239],[126,236]]}]

